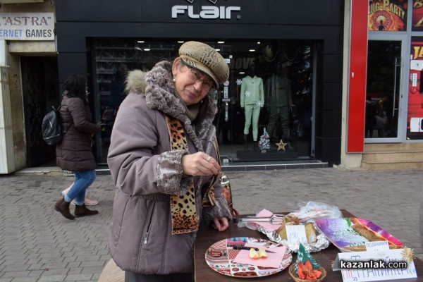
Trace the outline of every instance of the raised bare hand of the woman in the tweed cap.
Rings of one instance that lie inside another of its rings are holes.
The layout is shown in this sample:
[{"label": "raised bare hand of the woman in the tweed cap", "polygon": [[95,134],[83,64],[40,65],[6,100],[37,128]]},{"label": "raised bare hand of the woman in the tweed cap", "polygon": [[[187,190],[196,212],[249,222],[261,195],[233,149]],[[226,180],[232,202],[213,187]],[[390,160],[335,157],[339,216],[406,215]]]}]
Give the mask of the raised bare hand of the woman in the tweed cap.
[{"label": "raised bare hand of the woman in the tweed cap", "polygon": [[197,152],[183,155],[182,169],[188,176],[212,176],[219,173],[221,166],[208,154]]}]

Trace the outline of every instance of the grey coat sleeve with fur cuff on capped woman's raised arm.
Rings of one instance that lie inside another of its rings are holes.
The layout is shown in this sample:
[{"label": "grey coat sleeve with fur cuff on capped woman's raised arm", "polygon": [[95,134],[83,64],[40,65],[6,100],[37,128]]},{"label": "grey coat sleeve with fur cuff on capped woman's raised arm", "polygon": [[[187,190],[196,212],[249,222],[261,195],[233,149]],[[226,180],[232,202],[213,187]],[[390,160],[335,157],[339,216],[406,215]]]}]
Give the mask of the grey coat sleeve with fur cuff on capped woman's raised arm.
[{"label": "grey coat sleeve with fur cuff on capped woman's raised arm", "polygon": [[128,95],[119,107],[107,163],[116,188],[128,195],[183,195],[188,188],[181,163],[186,152],[169,151],[167,130],[158,123],[164,116],[148,109],[139,94]]}]

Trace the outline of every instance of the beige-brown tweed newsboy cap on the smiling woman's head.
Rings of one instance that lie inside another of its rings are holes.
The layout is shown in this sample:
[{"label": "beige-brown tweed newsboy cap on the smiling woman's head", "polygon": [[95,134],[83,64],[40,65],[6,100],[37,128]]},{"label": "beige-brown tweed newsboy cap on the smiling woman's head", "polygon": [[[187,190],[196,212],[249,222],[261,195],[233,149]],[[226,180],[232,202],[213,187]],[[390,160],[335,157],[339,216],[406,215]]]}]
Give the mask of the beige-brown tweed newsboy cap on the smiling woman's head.
[{"label": "beige-brown tweed newsboy cap on the smiling woman's head", "polygon": [[207,44],[196,41],[185,42],[180,45],[179,56],[188,66],[210,75],[216,85],[226,82],[229,78],[229,68],[225,59]]}]

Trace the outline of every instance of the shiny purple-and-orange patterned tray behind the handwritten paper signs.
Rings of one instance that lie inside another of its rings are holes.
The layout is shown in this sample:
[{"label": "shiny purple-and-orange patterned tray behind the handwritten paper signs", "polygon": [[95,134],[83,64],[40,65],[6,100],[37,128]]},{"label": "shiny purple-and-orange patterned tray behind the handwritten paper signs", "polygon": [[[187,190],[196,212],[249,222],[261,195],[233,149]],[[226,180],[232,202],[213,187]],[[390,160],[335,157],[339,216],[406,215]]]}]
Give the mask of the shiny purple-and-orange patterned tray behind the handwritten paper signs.
[{"label": "shiny purple-and-orange patterned tray behind the handwritten paper signs", "polygon": [[385,240],[391,249],[403,247],[400,240],[367,219],[343,217],[319,219],[315,223],[341,252],[362,252],[366,250],[366,242]]}]

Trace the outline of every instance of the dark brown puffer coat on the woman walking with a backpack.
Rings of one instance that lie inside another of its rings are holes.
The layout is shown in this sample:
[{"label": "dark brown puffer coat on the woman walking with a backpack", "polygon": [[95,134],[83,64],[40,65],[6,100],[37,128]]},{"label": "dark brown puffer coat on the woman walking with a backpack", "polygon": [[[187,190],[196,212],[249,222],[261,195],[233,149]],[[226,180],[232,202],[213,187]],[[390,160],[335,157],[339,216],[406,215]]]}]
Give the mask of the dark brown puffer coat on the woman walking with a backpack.
[{"label": "dark brown puffer coat on the woman walking with a backpack", "polygon": [[100,125],[92,123],[90,107],[82,99],[63,97],[59,111],[63,130],[62,142],[56,146],[57,166],[66,171],[90,171],[97,167],[92,154],[92,135]]}]

